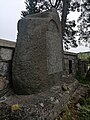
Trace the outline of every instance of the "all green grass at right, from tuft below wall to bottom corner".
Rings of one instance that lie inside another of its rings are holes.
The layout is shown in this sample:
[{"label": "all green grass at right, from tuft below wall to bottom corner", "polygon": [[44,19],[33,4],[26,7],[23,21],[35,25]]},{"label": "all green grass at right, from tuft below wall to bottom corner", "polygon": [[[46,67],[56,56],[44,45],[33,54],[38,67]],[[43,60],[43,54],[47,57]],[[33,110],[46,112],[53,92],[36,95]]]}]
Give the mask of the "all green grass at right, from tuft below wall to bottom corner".
[{"label": "all green grass at right, from tuft below wall to bottom corner", "polygon": [[57,120],[90,120],[90,81],[85,79],[85,74],[82,75],[77,72],[75,78],[82,84],[88,84],[89,90],[85,97],[78,100],[77,103],[69,103],[64,111],[60,114]]}]

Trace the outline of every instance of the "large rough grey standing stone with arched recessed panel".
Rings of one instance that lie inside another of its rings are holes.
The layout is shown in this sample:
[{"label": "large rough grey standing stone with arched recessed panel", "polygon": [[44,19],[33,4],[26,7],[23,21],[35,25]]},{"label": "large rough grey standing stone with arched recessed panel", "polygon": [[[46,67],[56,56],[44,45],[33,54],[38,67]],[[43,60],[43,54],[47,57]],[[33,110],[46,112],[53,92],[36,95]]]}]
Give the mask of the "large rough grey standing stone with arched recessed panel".
[{"label": "large rough grey standing stone with arched recessed panel", "polygon": [[21,19],[12,68],[15,92],[32,94],[59,84],[62,53],[61,25],[56,10]]}]

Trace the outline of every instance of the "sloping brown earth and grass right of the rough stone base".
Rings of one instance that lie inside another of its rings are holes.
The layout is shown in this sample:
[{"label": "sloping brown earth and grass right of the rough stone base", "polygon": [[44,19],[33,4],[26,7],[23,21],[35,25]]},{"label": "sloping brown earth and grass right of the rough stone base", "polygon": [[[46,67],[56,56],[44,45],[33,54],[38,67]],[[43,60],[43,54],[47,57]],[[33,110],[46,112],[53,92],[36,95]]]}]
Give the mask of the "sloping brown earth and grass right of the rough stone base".
[{"label": "sloping brown earth and grass right of the rough stone base", "polygon": [[90,120],[90,87],[81,85],[56,120]]}]

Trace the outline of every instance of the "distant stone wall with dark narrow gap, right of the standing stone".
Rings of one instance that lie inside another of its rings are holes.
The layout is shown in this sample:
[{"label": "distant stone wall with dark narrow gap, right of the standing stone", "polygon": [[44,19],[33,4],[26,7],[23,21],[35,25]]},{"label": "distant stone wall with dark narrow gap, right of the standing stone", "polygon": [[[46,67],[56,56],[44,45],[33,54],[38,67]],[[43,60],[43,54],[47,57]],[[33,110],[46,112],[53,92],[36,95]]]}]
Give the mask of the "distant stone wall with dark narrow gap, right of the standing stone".
[{"label": "distant stone wall with dark narrow gap, right of the standing stone", "polygon": [[78,54],[64,51],[64,75],[85,74],[88,71],[88,61],[79,59]]}]

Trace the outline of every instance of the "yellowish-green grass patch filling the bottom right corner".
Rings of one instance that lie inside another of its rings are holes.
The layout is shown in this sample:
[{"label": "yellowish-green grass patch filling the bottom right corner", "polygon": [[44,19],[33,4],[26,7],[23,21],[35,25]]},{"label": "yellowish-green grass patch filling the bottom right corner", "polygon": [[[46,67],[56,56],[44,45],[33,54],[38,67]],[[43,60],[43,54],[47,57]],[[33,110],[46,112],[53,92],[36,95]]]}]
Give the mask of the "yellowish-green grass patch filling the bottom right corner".
[{"label": "yellowish-green grass patch filling the bottom right corner", "polygon": [[56,120],[90,120],[90,96],[82,97],[76,104],[69,103]]}]

